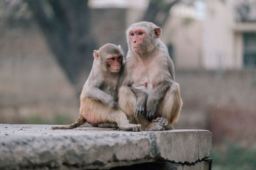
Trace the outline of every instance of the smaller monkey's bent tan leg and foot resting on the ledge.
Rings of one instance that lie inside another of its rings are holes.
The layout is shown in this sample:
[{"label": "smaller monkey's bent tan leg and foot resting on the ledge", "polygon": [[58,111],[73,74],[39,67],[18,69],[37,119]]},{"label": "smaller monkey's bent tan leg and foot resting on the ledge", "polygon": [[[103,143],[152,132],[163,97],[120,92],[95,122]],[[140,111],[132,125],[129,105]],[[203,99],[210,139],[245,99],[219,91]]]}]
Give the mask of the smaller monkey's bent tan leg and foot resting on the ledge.
[{"label": "smaller monkey's bent tan leg and foot resting on the ledge", "polygon": [[105,104],[85,97],[81,102],[80,115],[92,125],[117,124],[125,131],[141,131],[141,125],[129,124],[122,110],[114,110]]}]

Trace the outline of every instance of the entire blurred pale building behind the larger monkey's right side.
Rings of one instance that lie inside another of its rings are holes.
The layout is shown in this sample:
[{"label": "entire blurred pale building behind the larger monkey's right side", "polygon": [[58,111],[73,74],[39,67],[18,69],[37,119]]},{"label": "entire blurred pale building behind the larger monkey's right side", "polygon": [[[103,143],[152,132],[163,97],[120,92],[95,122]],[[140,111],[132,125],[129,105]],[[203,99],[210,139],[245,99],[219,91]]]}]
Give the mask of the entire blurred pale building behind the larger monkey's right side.
[{"label": "entire blurred pale building behind the larger monkey's right side", "polygon": [[255,1],[196,1],[192,6],[174,6],[163,39],[172,46],[176,67],[255,67],[255,5]]}]

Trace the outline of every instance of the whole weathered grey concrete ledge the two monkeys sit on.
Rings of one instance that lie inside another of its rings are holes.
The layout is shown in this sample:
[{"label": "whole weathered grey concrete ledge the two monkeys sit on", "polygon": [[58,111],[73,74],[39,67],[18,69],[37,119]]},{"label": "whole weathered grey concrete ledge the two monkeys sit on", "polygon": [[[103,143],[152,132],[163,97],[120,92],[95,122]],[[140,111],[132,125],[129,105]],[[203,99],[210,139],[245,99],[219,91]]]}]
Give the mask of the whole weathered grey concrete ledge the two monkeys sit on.
[{"label": "whole weathered grey concrete ledge the two monkeys sit on", "polygon": [[204,130],[53,131],[51,126],[0,124],[0,169],[110,169],[157,161],[205,169],[211,150],[211,132]]}]

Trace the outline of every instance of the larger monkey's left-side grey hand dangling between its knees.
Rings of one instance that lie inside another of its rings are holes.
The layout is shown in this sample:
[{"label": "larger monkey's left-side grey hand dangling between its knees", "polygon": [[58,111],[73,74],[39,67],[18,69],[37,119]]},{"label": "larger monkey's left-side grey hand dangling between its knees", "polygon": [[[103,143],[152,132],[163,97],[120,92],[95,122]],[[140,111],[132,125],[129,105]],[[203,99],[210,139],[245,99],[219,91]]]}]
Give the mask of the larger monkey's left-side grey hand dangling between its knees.
[{"label": "larger monkey's left-side grey hand dangling between its knees", "polygon": [[148,97],[147,93],[143,91],[137,94],[136,112],[135,112],[136,117],[140,117],[142,113],[146,110],[147,97]]}]

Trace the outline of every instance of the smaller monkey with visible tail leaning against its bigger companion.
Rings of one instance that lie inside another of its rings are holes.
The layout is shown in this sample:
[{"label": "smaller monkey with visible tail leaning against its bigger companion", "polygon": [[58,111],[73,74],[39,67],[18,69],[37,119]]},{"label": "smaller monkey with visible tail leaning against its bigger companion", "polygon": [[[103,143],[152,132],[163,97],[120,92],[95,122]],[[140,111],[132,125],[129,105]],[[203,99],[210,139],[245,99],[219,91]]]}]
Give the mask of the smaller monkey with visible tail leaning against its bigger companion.
[{"label": "smaller monkey with visible tail leaning against its bigger companion", "polygon": [[93,52],[91,73],[80,96],[80,117],[76,122],[52,129],[73,129],[88,122],[93,126],[117,127],[125,131],[141,131],[140,124],[129,124],[118,108],[117,83],[124,65],[121,46],[106,44]]}]

